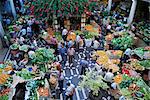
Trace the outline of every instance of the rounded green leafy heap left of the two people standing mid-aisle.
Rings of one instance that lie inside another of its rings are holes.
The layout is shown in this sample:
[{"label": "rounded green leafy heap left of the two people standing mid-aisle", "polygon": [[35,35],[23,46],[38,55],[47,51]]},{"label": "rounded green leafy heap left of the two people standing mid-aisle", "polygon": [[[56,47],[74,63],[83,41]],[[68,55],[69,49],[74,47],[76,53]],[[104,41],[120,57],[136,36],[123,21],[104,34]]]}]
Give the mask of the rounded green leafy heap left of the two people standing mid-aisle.
[{"label": "rounded green leafy heap left of the two people standing mid-aisle", "polygon": [[55,56],[50,49],[39,48],[35,51],[35,57],[32,62],[35,64],[45,64],[48,62],[53,62],[55,60]]}]

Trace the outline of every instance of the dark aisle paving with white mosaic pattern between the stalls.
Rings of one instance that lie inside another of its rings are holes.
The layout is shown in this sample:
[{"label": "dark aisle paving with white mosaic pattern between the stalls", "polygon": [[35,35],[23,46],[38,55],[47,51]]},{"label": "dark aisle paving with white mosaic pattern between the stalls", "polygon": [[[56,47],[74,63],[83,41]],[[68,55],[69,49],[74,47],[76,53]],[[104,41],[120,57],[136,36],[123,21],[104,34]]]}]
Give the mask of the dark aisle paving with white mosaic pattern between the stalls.
[{"label": "dark aisle paving with white mosaic pattern between the stalls", "polygon": [[88,90],[84,88],[80,89],[77,86],[80,81],[80,77],[79,77],[81,72],[80,61],[84,59],[85,56],[88,58],[89,61],[88,71],[91,71],[95,65],[95,62],[90,60],[91,52],[92,52],[91,48],[85,47],[83,50],[76,52],[73,65],[71,67],[68,66],[68,62],[66,63],[65,66],[63,66],[64,76],[65,76],[64,89],[66,89],[66,83],[68,81],[74,84],[76,87],[73,100],[85,100],[88,97]]}]

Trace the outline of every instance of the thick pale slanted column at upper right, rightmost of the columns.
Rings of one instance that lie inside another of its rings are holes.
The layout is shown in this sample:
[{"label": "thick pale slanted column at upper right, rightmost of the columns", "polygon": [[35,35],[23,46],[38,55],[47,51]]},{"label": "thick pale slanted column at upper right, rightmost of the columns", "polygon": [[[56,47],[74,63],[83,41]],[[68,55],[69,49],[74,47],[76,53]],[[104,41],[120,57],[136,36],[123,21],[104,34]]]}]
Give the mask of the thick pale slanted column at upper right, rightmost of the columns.
[{"label": "thick pale slanted column at upper right, rightmost of the columns", "polygon": [[135,15],[137,0],[132,0],[132,6],[128,17],[128,24],[131,24]]}]

